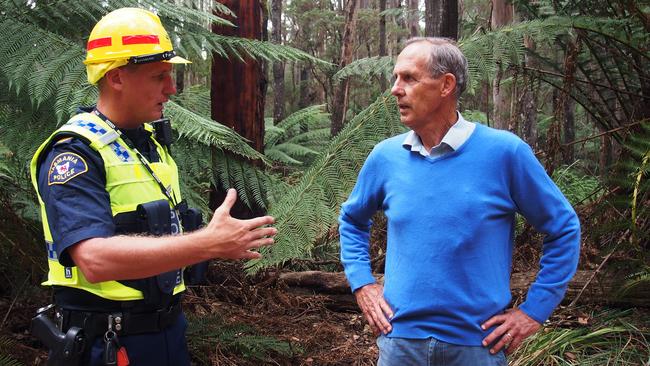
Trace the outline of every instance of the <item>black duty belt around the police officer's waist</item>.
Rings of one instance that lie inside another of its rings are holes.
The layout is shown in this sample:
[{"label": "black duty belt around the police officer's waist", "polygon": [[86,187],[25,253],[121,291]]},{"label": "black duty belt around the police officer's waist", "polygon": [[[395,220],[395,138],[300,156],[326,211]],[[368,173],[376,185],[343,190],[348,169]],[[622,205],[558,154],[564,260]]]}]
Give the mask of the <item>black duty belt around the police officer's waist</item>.
[{"label": "black duty belt around the police officer's waist", "polygon": [[181,314],[181,303],[147,313],[131,311],[86,312],[61,309],[63,328],[80,327],[86,334],[103,334],[108,330],[108,319],[112,319],[111,328],[120,336],[155,333],[174,325]]}]

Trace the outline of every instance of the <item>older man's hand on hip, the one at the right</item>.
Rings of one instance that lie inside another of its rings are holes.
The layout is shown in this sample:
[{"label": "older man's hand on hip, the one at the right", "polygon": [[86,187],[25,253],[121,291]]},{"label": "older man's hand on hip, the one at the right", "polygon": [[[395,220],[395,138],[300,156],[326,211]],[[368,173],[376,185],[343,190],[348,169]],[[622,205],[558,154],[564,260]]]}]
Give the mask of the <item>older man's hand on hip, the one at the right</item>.
[{"label": "older man's hand on hip, the one at the right", "polygon": [[537,321],[529,317],[519,309],[508,309],[505,314],[495,315],[481,325],[481,328],[488,329],[497,326],[492,333],[483,339],[483,347],[487,347],[497,339],[499,340],[491,349],[490,353],[495,354],[503,347],[506,347],[506,354],[514,352],[521,343],[537,332],[541,327]]}]

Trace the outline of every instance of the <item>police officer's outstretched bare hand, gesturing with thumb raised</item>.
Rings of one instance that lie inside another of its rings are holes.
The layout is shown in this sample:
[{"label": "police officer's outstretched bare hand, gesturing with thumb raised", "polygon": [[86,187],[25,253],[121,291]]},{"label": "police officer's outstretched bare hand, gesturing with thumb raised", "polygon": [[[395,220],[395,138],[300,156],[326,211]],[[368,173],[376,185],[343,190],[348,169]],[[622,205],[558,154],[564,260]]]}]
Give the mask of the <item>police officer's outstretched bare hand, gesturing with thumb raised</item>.
[{"label": "police officer's outstretched bare hand, gesturing with thumb raised", "polygon": [[275,222],[271,216],[239,220],[230,216],[230,209],[237,201],[237,191],[229,189],[226,199],[214,211],[205,233],[210,235],[209,250],[213,258],[255,259],[262,255],[255,252],[262,246],[273,244],[277,229],[265,227]]}]

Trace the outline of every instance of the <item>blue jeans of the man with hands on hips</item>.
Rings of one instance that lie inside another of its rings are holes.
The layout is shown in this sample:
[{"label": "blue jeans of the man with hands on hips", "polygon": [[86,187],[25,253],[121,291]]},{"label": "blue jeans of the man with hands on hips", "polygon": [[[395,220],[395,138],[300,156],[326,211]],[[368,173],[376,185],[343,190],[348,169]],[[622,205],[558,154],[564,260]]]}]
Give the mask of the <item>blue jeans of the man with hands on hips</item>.
[{"label": "blue jeans of the man with hands on hips", "polygon": [[503,351],[492,355],[482,346],[458,346],[434,338],[379,336],[377,366],[507,366]]}]

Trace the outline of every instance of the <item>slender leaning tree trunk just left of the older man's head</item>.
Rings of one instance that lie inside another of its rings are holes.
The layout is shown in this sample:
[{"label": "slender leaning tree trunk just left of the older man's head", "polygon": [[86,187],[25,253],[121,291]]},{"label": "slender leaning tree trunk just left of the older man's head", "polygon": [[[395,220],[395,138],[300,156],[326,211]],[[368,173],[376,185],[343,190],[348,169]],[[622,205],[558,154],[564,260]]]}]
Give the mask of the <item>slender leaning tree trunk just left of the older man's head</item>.
[{"label": "slender leaning tree trunk just left of the older man's head", "polygon": [[[354,31],[356,23],[356,13],[359,0],[347,0],[345,4],[345,30],[341,46],[341,62],[339,70],[352,62],[352,50],[354,48]],[[345,121],[345,112],[348,105],[348,92],[350,90],[350,81],[345,79],[336,88],[334,101],[332,104],[332,127],[331,135],[335,136],[343,128]]]}]

